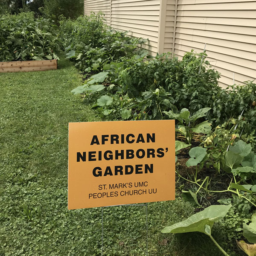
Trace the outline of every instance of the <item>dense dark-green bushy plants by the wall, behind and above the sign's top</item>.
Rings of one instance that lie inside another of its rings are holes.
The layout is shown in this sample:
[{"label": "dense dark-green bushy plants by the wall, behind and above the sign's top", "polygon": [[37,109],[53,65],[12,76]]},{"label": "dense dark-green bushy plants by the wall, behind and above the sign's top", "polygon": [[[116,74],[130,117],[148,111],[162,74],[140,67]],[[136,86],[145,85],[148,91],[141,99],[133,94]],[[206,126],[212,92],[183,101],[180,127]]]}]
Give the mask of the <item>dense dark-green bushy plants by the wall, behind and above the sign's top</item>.
[{"label": "dense dark-green bushy plants by the wall, behind and above the sign's top", "polygon": [[204,68],[198,73],[202,57],[205,57],[204,53],[195,55],[190,52],[184,55],[182,61],[170,58],[168,54],[143,61],[134,56],[122,64],[118,80],[130,97],[140,96],[148,88],[155,90],[163,87],[170,93],[171,102],[178,109],[189,108],[195,112],[203,108],[200,102],[205,102],[203,95],[209,94],[215,87],[218,89],[218,73],[215,70],[207,70],[209,62],[203,61]]}]

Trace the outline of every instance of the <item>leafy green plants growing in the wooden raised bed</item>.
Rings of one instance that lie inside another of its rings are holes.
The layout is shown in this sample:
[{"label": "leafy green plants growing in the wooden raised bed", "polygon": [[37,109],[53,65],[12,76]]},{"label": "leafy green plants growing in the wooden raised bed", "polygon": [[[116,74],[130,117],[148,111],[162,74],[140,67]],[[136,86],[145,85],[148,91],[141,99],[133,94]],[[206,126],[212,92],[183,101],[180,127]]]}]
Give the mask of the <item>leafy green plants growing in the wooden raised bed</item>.
[{"label": "leafy green plants growing in the wooden raised bed", "polygon": [[55,26],[32,13],[0,16],[0,61],[58,59]]}]

